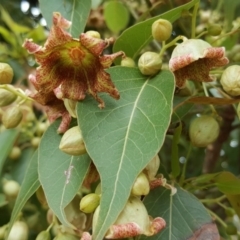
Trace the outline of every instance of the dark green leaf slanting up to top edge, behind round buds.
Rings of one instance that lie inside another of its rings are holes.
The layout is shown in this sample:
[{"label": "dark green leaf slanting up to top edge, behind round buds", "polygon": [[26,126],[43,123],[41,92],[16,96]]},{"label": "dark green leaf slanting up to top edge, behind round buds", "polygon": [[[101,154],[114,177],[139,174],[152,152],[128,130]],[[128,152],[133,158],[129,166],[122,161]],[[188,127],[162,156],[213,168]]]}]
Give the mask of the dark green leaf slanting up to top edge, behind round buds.
[{"label": "dark green leaf slanting up to top edge, behind round buds", "polygon": [[[135,59],[141,49],[153,40],[151,28],[154,21],[159,18],[163,18],[169,20],[170,22],[174,22],[181,17],[183,11],[189,10],[198,1],[199,0],[192,0],[185,5],[174,8],[171,11],[150,18],[144,22],[135,24],[134,26],[128,28],[116,40],[113,46],[113,51],[124,51],[128,57]],[[116,60],[116,63],[119,62],[120,60]]]}]

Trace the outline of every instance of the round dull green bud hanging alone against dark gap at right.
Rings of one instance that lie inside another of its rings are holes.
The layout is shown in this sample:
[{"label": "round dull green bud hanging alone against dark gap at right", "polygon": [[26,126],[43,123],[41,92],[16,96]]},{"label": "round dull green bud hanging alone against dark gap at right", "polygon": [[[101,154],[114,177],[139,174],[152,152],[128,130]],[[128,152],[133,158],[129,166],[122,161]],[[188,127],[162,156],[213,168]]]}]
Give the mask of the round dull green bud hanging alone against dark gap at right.
[{"label": "round dull green bud hanging alone against dark gap at right", "polygon": [[196,147],[206,147],[217,139],[219,130],[219,124],[215,118],[203,115],[191,122],[190,140]]}]

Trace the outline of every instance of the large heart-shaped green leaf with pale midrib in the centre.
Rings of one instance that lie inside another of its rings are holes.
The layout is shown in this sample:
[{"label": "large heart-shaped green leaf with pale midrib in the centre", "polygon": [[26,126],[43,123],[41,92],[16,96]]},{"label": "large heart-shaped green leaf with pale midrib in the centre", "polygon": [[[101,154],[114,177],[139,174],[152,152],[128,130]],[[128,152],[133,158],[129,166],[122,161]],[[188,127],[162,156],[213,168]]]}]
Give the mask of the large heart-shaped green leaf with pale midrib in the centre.
[{"label": "large heart-shaped green leaf with pale midrib in the centre", "polygon": [[136,68],[113,67],[108,72],[120,100],[103,94],[106,108],[99,109],[92,97],[77,107],[84,142],[102,186],[93,239],[103,239],[123,209],[136,177],[161,148],[174,92],[169,71],[153,78],[143,76]]}]

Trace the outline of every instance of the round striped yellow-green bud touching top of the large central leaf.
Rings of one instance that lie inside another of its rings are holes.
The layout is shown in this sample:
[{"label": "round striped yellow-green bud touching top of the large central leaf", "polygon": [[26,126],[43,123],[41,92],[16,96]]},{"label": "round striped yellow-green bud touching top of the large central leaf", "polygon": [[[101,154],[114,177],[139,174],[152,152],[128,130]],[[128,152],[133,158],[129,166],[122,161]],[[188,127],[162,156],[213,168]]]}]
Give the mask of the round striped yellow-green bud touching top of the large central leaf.
[{"label": "round striped yellow-green bud touching top of the large central leaf", "polygon": [[139,70],[143,75],[154,75],[162,67],[162,59],[155,52],[145,52],[138,60]]}]

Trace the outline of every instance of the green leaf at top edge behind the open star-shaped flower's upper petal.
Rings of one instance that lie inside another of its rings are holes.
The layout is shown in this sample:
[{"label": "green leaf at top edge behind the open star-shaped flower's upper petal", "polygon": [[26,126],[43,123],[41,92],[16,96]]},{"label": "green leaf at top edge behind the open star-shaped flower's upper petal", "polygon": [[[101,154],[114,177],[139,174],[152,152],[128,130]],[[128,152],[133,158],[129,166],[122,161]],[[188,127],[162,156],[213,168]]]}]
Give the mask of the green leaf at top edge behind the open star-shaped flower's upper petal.
[{"label": "green leaf at top edge behind the open star-shaped flower's upper petal", "polygon": [[69,32],[73,37],[78,38],[85,29],[88,15],[91,10],[91,1],[89,0],[39,0],[40,9],[43,17],[50,28],[52,26],[53,12],[60,12],[64,18],[72,22]]}]

